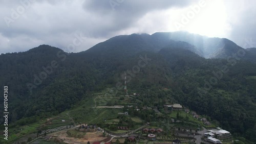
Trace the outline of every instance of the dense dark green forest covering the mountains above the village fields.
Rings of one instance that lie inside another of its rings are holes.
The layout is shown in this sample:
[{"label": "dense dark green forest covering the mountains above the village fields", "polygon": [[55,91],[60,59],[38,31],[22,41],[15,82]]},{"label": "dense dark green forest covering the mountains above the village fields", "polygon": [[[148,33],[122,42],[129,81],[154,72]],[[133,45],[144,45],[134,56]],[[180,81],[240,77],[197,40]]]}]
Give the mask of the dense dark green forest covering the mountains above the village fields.
[{"label": "dense dark green forest covering the mountains above the village fields", "polygon": [[107,87],[122,92],[126,73],[129,91],[147,93],[141,95],[142,105],[162,109],[165,103],[180,103],[234,136],[256,141],[255,48],[245,50],[245,56],[225,58],[242,48],[215,39],[226,45],[206,59],[202,47],[165,36],[117,36],[71,54],[49,45],[2,54],[0,85],[8,86],[9,122],[24,125],[56,115]]}]

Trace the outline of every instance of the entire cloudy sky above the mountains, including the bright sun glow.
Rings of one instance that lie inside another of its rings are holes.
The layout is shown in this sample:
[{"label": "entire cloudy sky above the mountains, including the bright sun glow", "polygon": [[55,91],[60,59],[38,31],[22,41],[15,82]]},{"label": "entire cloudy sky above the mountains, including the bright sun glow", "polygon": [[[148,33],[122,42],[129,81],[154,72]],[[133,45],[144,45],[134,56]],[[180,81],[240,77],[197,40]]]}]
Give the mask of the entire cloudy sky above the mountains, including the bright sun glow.
[{"label": "entire cloudy sky above the mountains, including the bright sun glow", "polygon": [[[188,31],[256,47],[254,0],[0,0],[0,54],[40,44],[81,52],[116,35]],[[248,41],[250,41],[248,44]]]}]

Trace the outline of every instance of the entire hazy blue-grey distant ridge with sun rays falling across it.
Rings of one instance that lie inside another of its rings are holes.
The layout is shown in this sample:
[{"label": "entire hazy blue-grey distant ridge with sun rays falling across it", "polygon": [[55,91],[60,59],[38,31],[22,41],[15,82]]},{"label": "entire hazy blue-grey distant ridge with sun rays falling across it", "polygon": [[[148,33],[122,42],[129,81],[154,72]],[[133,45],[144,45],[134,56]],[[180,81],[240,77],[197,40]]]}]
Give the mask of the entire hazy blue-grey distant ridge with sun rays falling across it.
[{"label": "entire hazy blue-grey distant ridge with sun rays falling across it", "polygon": [[[204,58],[225,58],[241,53],[242,59],[255,61],[256,54],[244,51],[242,47],[226,38],[209,38],[188,32],[158,32],[152,35],[132,34],[113,37],[96,44],[85,53],[109,56],[115,51],[120,56],[141,51],[157,52],[164,47],[180,47]],[[248,56],[248,57],[247,57]]]}]

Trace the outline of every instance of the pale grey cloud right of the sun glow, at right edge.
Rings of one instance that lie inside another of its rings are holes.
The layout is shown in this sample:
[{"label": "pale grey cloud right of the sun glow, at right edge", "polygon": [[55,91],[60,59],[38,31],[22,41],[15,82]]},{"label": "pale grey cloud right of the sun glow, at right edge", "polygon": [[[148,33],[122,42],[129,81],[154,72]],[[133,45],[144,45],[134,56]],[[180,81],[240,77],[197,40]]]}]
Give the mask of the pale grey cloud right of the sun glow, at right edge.
[{"label": "pale grey cloud right of the sun glow, at right edge", "polygon": [[[256,47],[256,1],[224,1],[232,27],[228,38],[244,48]],[[248,42],[250,41],[250,42]]]}]

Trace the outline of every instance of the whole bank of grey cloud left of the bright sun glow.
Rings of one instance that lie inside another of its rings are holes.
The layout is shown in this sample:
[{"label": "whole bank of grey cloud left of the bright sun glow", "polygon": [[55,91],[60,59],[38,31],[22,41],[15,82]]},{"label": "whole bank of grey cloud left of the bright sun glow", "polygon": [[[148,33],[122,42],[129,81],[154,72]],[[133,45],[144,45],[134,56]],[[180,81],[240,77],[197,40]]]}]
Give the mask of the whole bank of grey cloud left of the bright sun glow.
[{"label": "whole bank of grey cloud left of the bright sun glow", "polygon": [[[39,44],[65,49],[74,39],[76,31],[88,40],[75,52],[84,51],[117,35],[118,31],[130,28],[147,12],[184,7],[191,2],[123,1],[114,7],[115,10],[111,3],[112,0],[1,1],[0,53],[26,51]],[[24,12],[18,13],[18,18],[13,21],[6,22],[6,17],[12,18],[13,13],[17,13],[20,7],[25,7]],[[127,34],[131,33],[133,32]]]}]

